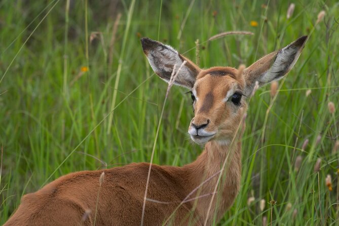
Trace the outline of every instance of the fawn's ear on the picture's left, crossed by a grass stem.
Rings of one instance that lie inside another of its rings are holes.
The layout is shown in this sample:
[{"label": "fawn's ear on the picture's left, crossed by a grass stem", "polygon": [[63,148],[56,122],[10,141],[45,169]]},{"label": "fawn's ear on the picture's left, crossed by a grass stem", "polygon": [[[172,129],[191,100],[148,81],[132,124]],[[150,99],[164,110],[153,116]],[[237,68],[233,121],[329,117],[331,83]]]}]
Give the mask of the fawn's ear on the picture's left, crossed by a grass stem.
[{"label": "fawn's ear on the picture's left, crossed by a grass stem", "polygon": [[180,69],[174,84],[192,89],[198,73],[201,69],[191,60],[180,55],[168,45],[143,37],[141,39],[143,52],[145,53],[150,66],[158,76],[169,82],[173,67],[177,70],[183,61],[187,61]]}]

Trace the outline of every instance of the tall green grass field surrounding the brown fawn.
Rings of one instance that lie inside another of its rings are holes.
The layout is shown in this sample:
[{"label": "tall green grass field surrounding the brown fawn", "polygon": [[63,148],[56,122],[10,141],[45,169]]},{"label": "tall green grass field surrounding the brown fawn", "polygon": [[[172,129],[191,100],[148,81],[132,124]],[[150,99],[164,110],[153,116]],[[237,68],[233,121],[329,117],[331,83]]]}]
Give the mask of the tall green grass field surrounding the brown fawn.
[{"label": "tall green grass field surrounding the brown fawn", "polygon": [[[328,103],[339,107],[339,3],[295,1],[287,18],[289,1],[228,2],[1,1],[0,224],[22,195],[61,175],[149,162],[167,84],[140,37],[194,61],[199,40],[206,68],[250,65],[308,34],[277,97],[267,86],[250,100],[241,190],[219,224],[338,225],[339,111]],[[233,30],[254,35],[207,42]],[[187,136],[193,111],[185,92],[170,92],[156,164],[181,166],[201,152]]]}]

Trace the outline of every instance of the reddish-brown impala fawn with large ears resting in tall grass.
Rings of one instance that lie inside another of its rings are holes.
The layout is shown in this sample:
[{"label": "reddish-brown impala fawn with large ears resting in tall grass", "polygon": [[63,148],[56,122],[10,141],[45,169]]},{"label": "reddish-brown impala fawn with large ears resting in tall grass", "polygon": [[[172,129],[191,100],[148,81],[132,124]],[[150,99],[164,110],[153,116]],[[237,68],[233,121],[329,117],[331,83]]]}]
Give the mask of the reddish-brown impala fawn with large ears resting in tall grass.
[{"label": "reddish-brown impala fawn with large ears resting in tall grass", "polygon": [[[148,163],[70,173],[25,195],[5,225],[210,225],[218,222],[232,206],[240,188],[246,98],[255,84],[261,86],[281,79],[293,67],[306,40],[307,36],[302,36],[239,71],[223,66],[200,69],[172,47],[141,39],[143,52],[153,70],[167,82],[174,65],[178,68],[186,61],[181,70],[176,71],[174,83],[192,92],[195,115],[189,134],[194,142],[205,144],[202,154],[182,167],[153,165],[146,199]],[[102,172],[104,179],[99,181]]]}]

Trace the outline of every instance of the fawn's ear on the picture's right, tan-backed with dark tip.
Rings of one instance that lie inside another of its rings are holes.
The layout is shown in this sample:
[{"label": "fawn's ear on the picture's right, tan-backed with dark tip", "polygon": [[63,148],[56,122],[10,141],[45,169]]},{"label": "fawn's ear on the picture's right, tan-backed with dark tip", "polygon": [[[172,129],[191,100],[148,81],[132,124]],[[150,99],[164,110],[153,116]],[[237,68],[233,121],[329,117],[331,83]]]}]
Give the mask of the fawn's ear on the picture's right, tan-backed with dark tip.
[{"label": "fawn's ear on the picture's right, tan-backed with dark tip", "polygon": [[299,58],[306,40],[307,36],[299,37],[288,46],[262,57],[247,67],[243,72],[246,82],[245,93],[251,94],[255,81],[258,81],[259,86],[262,86],[283,78]]}]

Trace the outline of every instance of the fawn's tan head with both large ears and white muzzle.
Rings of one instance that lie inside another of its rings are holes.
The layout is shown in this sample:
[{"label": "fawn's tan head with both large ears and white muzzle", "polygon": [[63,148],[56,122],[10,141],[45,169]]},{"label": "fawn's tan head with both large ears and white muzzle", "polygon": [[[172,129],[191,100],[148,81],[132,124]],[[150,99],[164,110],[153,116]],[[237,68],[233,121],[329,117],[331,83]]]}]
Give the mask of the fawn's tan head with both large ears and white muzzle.
[{"label": "fawn's tan head with both large ears and white muzzle", "polygon": [[224,66],[201,69],[168,45],[147,37],[141,39],[141,44],[150,66],[166,82],[170,81],[174,65],[179,68],[186,61],[174,84],[191,90],[195,115],[189,134],[194,142],[204,144],[210,140],[228,143],[233,138],[255,84],[262,86],[283,78],[295,64],[306,40],[307,36],[299,37],[251,66],[238,69]]}]

